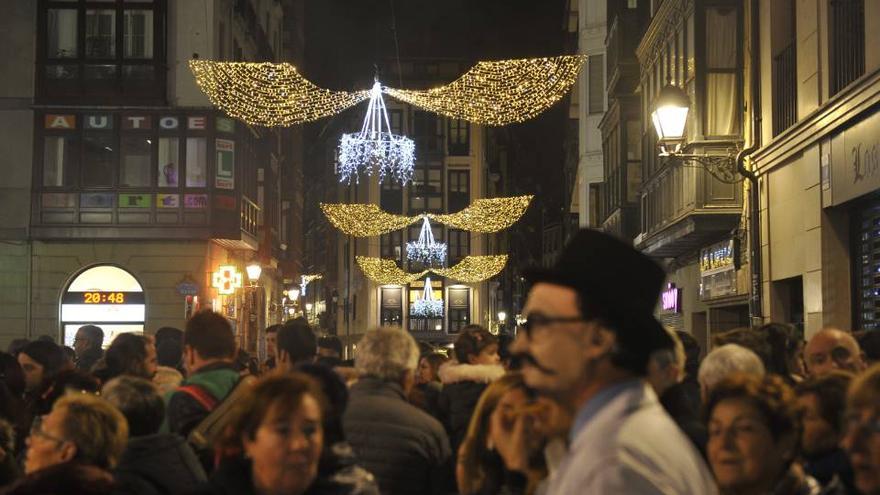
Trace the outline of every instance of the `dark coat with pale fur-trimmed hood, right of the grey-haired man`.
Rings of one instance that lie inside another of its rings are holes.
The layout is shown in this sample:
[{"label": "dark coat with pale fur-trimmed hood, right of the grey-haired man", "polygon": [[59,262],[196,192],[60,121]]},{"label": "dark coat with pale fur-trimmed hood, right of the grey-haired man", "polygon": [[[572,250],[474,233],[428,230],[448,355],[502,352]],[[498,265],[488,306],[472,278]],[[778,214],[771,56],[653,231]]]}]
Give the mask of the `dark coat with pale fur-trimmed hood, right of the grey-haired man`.
[{"label": "dark coat with pale fur-trimmed hood, right of the grey-haired man", "polygon": [[440,367],[438,375],[443,382],[438,411],[454,454],[467,435],[480,396],[489,382],[504,375],[504,368],[501,365],[447,363]]}]

